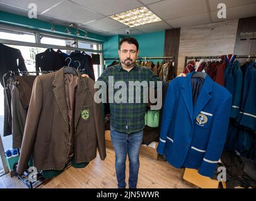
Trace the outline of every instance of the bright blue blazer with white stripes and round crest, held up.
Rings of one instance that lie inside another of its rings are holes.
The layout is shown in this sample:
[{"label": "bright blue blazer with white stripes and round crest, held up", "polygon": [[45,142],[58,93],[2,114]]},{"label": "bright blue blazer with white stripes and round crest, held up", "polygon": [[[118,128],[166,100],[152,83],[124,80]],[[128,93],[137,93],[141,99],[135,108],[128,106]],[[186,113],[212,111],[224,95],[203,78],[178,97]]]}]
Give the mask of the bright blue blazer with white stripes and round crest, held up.
[{"label": "bright blue blazer with white stripes and round crest, held up", "polygon": [[206,75],[193,106],[193,73],[169,84],[157,151],[176,168],[195,168],[212,177],[226,139],[232,95]]}]

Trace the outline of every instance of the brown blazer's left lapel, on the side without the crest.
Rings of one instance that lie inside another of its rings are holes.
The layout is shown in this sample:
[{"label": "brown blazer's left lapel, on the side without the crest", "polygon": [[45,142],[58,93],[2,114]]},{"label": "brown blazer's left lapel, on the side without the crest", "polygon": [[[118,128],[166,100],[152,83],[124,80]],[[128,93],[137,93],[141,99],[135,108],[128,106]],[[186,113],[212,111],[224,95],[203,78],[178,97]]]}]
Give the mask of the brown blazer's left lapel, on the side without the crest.
[{"label": "brown blazer's left lapel, on the side without the crest", "polygon": [[53,92],[54,97],[57,102],[57,106],[59,111],[61,112],[62,119],[66,125],[67,131],[69,132],[69,122],[67,119],[67,103],[66,103],[66,92],[64,86],[64,68],[61,68],[57,72],[55,72]]}]

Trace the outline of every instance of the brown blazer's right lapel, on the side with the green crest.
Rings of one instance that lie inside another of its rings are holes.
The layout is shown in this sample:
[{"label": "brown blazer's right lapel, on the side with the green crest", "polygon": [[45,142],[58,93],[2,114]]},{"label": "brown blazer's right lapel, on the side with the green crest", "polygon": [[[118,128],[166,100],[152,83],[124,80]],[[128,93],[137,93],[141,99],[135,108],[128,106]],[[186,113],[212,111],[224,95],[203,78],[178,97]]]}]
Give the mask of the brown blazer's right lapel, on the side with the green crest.
[{"label": "brown blazer's right lapel, on the side with the green crest", "polygon": [[79,76],[78,80],[78,89],[76,90],[76,106],[75,106],[75,114],[74,114],[74,120],[75,120],[75,131],[76,127],[78,126],[79,117],[81,116],[81,112],[83,111],[84,101],[86,99],[86,79]]}]

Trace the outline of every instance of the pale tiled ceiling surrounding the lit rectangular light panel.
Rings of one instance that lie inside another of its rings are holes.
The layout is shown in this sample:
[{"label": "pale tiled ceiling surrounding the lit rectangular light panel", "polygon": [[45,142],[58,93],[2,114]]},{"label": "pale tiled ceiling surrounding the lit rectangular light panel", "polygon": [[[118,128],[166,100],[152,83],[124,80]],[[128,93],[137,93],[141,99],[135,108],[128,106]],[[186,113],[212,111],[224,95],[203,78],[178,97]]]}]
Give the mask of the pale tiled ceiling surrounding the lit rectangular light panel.
[{"label": "pale tiled ceiling surrounding the lit rectangular light panel", "polygon": [[[131,35],[170,28],[183,28],[256,16],[256,0],[0,0],[0,10],[28,15],[28,4],[37,4],[38,19],[55,24],[76,23],[79,28],[101,35]],[[226,4],[227,18],[218,19],[218,3]],[[146,6],[160,22],[129,28],[112,14]]]}]

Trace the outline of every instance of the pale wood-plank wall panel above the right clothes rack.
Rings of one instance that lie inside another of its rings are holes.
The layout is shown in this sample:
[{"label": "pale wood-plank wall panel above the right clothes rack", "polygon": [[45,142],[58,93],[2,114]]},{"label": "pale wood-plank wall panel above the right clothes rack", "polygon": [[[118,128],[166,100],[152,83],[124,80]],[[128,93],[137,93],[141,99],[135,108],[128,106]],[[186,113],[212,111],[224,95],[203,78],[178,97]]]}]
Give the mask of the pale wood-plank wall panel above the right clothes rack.
[{"label": "pale wood-plank wall panel above the right clothes rack", "polygon": [[178,72],[183,71],[185,56],[211,56],[234,53],[238,19],[191,26],[180,30]]}]

